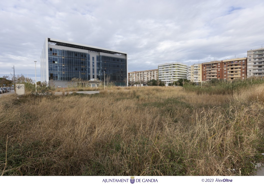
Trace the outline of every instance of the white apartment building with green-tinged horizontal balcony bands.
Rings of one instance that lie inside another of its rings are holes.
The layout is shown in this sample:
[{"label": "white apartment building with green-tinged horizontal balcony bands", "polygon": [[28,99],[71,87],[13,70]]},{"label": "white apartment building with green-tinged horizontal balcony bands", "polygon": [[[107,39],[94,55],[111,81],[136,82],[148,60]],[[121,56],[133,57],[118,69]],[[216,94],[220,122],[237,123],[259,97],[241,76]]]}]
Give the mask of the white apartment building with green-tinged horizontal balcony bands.
[{"label": "white apartment building with green-tinged horizontal balcony bands", "polygon": [[188,65],[175,62],[158,65],[159,80],[167,85],[170,82],[178,81],[179,79],[187,79]]}]

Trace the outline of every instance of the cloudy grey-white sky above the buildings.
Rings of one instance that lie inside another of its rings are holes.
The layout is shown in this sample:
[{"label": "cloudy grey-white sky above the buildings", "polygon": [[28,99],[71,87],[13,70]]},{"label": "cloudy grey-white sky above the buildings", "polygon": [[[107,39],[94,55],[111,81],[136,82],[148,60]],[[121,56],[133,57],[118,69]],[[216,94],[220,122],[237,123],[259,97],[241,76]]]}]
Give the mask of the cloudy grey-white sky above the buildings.
[{"label": "cloudy grey-white sky above the buildings", "polygon": [[45,37],[128,53],[128,72],[247,56],[264,46],[263,0],[0,1],[0,77],[40,81]]}]

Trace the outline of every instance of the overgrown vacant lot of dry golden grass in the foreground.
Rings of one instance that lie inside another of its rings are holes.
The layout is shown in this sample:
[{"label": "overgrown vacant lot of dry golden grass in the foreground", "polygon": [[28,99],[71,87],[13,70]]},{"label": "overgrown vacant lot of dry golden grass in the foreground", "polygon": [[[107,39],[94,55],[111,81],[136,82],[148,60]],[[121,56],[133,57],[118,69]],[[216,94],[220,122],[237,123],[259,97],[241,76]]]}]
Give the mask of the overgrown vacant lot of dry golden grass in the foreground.
[{"label": "overgrown vacant lot of dry golden grass in the foreground", "polygon": [[0,100],[3,175],[250,175],[264,158],[263,84]]}]

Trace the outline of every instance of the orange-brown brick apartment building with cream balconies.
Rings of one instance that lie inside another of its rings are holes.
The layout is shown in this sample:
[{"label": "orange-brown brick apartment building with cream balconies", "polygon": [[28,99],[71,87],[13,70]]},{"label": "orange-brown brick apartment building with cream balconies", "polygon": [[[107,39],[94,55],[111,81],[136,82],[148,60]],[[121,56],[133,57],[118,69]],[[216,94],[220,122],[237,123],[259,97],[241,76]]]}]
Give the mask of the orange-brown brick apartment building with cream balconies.
[{"label": "orange-brown brick apartment building with cream balconies", "polygon": [[202,81],[224,79],[232,81],[247,77],[247,58],[235,58],[202,63]]}]

